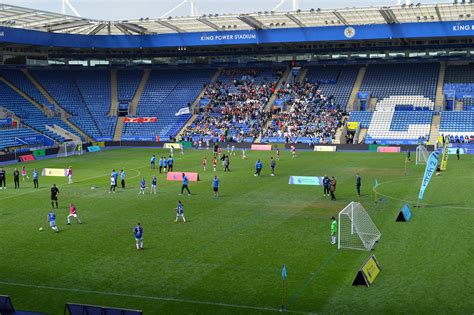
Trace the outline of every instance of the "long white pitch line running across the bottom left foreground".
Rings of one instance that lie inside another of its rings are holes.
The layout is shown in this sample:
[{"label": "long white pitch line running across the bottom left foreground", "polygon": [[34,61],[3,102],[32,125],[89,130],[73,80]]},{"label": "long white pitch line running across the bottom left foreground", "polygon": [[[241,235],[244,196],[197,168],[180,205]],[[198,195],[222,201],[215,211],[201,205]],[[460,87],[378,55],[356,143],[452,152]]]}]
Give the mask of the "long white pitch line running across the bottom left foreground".
[{"label": "long white pitch line running across the bottom left foreground", "polygon": [[[259,306],[242,305],[242,304],[229,304],[229,303],[221,303],[221,302],[199,301],[199,300],[190,300],[190,299],[164,297],[164,296],[147,296],[147,295],[140,295],[140,294],[105,292],[105,291],[96,291],[96,290],[87,290],[87,289],[61,288],[61,287],[53,287],[53,286],[47,286],[47,285],[35,285],[35,284],[14,283],[14,282],[5,282],[5,281],[0,281],[0,285],[16,286],[16,287],[24,287],[24,288],[32,288],[32,289],[42,289],[42,290],[54,290],[54,291],[85,293],[85,294],[99,294],[99,295],[108,295],[108,296],[119,296],[119,297],[126,297],[126,298],[135,298],[135,299],[143,299],[143,300],[155,300],[155,301],[164,301],[164,302],[179,302],[179,303],[200,304],[200,305],[209,305],[209,306],[221,306],[221,307],[248,309],[248,310],[255,310],[255,311],[280,312],[279,309],[272,308],[272,307],[259,307]],[[285,312],[294,313],[294,314],[310,314],[309,312],[292,311],[292,310],[285,310]]]}]

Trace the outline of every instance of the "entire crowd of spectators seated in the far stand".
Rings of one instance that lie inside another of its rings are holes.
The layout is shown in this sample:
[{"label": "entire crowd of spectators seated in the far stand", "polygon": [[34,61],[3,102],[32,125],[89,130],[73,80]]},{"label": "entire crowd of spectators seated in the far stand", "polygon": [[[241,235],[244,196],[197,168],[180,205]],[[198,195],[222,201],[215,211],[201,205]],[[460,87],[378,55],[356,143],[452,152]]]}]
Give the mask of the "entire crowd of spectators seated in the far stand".
[{"label": "entire crowd of spectators seated in the far stand", "polygon": [[[334,97],[322,94],[317,83],[283,84],[276,91],[278,78],[263,78],[264,70],[225,70],[221,77],[205,86],[200,115],[187,127],[184,138],[212,138],[219,141],[254,141],[262,137],[285,139],[307,138],[314,143],[334,139],[342,122],[342,111]],[[281,74],[280,74],[281,76]],[[266,110],[271,96],[283,100],[282,108]],[[268,128],[267,128],[268,126]]]}]

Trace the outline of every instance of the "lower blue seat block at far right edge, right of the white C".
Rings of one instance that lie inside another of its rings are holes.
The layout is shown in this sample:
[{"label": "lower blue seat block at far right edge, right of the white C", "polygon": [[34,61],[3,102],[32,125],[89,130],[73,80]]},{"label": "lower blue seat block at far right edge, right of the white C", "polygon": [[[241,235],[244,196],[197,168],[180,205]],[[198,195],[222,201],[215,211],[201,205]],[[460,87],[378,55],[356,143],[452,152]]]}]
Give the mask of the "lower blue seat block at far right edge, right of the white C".
[{"label": "lower blue seat block at far right edge, right of the white C", "polygon": [[450,136],[450,140],[464,142],[462,139],[474,137],[474,111],[441,113],[439,132],[443,136]]}]

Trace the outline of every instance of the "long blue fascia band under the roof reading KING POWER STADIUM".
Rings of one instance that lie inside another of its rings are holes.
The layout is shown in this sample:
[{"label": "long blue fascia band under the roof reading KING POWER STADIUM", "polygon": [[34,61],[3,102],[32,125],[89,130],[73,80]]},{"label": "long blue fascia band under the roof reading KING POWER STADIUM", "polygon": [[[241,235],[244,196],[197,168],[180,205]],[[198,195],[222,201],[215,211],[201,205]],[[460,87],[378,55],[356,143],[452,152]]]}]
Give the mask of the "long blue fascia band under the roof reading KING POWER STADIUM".
[{"label": "long blue fascia band under the roof reading KING POWER STADIUM", "polygon": [[474,21],[186,32],[141,36],[61,34],[0,27],[0,42],[3,43],[88,49],[141,49],[179,46],[280,44],[464,36],[474,36]]}]

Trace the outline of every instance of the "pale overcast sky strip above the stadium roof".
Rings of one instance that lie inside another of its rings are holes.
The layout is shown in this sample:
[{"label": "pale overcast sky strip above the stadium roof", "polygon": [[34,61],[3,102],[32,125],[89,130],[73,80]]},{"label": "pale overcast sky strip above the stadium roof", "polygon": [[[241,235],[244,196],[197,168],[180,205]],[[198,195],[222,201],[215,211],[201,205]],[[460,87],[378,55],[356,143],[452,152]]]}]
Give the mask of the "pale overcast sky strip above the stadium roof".
[{"label": "pale overcast sky strip above the stadium roof", "polygon": [[[69,0],[83,17],[104,20],[123,20],[140,17],[160,17],[182,2],[182,0]],[[45,11],[61,12],[62,0],[0,0],[0,3]],[[279,0],[196,0],[198,14],[209,13],[246,13],[272,10]],[[280,10],[291,10],[292,0],[280,7]],[[311,8],[344,8],[380,5],[396,5],[397,0],[300,0],[301,9]],[[418,3],[453,2],[444,0],[413,0]],[[72,14],[71,11],[67,12]],[[173,16],[190,15],[190,5],[184,4]]]}]

